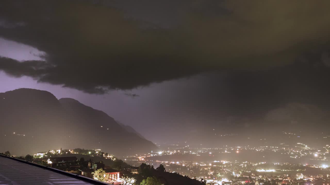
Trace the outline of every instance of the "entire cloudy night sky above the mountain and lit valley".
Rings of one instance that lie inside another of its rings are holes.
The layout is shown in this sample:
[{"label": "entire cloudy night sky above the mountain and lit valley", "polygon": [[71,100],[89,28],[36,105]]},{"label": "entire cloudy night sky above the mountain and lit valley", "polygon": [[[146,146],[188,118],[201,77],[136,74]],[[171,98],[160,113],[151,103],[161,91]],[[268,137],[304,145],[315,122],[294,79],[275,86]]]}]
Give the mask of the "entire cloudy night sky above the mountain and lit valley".
[{"label": "entire cloudy night sky above the mountain and lit valley", "polygon": [[154,143],[274,122],[323,124],[329,7],[309,0],[5,0],[0,92],[71,97]]}]

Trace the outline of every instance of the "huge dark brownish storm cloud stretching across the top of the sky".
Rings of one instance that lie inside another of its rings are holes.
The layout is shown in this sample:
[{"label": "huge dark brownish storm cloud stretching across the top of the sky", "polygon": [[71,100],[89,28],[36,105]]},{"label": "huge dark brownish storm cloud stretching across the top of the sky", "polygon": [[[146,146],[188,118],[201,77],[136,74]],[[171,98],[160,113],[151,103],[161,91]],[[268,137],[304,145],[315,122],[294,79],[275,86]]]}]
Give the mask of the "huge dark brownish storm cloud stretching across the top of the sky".
[{"label": "huge dark brownish storm cloud stretching across the top of the sky", "polygon": [[0,67],[16,77],[105,93],[217,69],[290,65],[329,41],[328,1],[184,5],[178,25],[148,29],[95,1],[3,1],[0,36],[45,52],[46,62],[1,58]]}]

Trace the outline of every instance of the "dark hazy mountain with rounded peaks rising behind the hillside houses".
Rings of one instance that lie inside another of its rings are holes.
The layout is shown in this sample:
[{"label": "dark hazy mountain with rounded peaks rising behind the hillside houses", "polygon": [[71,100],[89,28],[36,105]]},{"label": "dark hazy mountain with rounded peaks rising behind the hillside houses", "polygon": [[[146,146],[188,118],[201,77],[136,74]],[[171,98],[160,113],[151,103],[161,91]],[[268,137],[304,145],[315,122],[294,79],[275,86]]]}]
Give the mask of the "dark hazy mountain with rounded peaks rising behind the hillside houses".
[{"label": "dark hazy mountain with rounded peaks rising behind the hillside houses", "polygon": [[16,155],[80,147],[124,156],[157,149],[132,127],[106,113],[72,98],[58,100],[47,91],[0,93],[0,122],[0,149]]}]

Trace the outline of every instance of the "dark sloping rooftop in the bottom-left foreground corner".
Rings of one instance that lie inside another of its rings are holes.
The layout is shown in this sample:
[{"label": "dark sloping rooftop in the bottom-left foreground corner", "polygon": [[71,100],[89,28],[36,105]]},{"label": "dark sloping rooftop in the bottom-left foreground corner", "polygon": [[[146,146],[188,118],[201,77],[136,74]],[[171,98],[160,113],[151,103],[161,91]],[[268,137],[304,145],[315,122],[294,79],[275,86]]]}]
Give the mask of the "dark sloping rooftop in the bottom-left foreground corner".
[{"label": "dark sloping rooftop in the bottom-left foreground corner", "polygon": [[[0,185],[106,185],[107,183],[0,155]],[[109,185],[109,184],[108,184]]]}]

